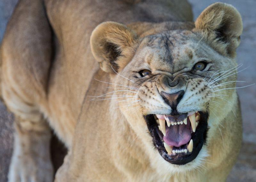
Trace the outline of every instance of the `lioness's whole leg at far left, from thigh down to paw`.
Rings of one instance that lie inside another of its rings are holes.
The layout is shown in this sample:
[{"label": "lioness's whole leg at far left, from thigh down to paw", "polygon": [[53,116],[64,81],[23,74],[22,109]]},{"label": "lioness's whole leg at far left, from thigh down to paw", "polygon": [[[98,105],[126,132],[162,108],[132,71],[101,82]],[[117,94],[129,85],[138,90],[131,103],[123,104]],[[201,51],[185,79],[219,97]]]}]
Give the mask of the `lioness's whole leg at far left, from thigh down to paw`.
[{"label": "lioness's whole leg at far left, from thigh down to paw", "polygon": [[43,3],[19,1],[0,49],[1,96],[16,116],[9,182],[53,179],[51,132],[42,114],[52,59],[52,33]]}]

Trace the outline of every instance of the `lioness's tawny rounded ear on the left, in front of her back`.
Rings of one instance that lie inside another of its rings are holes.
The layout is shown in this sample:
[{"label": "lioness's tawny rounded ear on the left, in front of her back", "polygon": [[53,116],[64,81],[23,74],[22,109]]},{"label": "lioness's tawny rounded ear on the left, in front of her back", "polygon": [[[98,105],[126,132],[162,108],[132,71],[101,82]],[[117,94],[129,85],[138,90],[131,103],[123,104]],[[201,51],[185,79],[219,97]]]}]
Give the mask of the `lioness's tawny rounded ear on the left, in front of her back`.
[{"label": "lioness's tawny rounded ear on the left, in front of her back", "polygon": [[[108,73],[118,72],[132,59],[137,35],[123,24],[104,22],[92,32],[90,44],[100,68]],[[114,70],[113,70],[114,69]]]}]

